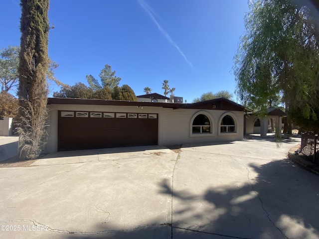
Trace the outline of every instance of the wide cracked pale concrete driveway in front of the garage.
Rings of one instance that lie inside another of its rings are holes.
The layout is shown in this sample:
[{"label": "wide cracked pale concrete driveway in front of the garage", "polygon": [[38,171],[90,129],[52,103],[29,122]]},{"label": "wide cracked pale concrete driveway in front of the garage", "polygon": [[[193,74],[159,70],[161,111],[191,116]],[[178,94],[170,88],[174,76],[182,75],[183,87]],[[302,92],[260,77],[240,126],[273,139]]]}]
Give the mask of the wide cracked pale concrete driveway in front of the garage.
[{"label": "wide cracked pale concrete driveway in front of the garage", "polygon": [[0,238],[317,239],[319,177],[269,138],[58,152],[0,168]]}]

